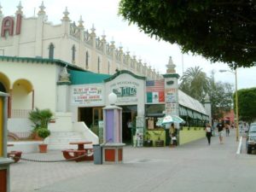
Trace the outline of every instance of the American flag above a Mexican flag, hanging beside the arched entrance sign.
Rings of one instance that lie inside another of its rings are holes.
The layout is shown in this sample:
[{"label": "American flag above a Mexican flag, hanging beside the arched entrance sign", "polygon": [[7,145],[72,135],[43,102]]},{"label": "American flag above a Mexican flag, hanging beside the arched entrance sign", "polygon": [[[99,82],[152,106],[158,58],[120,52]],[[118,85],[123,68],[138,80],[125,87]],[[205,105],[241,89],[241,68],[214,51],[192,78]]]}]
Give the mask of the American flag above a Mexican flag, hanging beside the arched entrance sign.
[{"label": "American flag above a Mexican flag, hanging beside the arched entrance sign", "polygon": [[165,79],[146,81],[147,102],[165,102]]}]

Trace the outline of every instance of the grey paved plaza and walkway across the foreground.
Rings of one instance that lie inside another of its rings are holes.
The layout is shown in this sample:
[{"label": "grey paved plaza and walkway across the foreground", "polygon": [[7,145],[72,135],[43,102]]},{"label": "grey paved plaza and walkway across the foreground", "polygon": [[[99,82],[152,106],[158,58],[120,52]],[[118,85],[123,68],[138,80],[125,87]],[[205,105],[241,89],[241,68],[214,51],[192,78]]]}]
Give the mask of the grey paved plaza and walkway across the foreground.
[{"label": "grey paved plaza and walkway across the foreground", "polygon": [[[256,155],[236,154],[235,131],[177,148],[124,148],[124,163],[36,163],[11,165],[11,192],[241,192],[255,190]],[[243,145],[244,147],[244,145]],[[61,151],[24,154],[40,160],[63,160]]]}]

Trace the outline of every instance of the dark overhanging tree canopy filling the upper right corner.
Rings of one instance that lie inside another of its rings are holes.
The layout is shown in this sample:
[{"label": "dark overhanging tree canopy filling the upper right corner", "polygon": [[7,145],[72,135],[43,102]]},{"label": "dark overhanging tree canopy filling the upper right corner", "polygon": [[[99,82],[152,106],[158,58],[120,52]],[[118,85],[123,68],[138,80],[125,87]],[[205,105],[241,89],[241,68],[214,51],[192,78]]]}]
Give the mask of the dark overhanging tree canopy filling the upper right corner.
[{"label": "dark overhanging tree canopy filling the upper right corner", "polygon": [[151,37],[230,67],[256,64],[256,2],[121,0],[119,15]]}]

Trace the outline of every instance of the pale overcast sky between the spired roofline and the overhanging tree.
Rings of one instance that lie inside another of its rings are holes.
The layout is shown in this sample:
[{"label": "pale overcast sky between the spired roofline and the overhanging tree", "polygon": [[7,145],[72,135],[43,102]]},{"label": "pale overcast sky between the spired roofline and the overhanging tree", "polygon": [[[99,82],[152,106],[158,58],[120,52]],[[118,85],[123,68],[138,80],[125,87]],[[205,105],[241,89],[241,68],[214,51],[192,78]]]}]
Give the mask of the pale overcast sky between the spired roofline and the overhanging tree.
[{"label": "pale overcast sky between the spired roofline and the overhanging tree", "polygon": [[[16,7],[20,2],[26,18],[37,16],[41,0],[0,0],[3,15],[15,15]],[[72,22],[75,21],[78,24],[82,16],[85,30],[90,32],[94,25],[96,36],[101,37],[105,34],[108,42],[113,40],[116,47],[122,46],[125,52],[130,51],[130,55],[137,55],[137,59],[141,58],[161,74],[166,73],[166,64],[172,56],[176,72],[180,76],[189,67],[200,66],[208,77],[213,72],[215,81],[228,82],[233,84],[235,89],[236,76],[234,72],[229,72],[231,70],[227,64],[211,63],[200,55],[182,55],[177,44],[150,38],[147,34],[140,32],[136,25],[129,26],[128,21],[118,15],[119,0],[44,0],[44,6],[48,21],[53,25],[61,23],[63,12],[67,7]],[[219,70],[228,70],[228,72],[220,73]],[[255,87],[255,74],[256,67],[238,68],[238,90]]]}]

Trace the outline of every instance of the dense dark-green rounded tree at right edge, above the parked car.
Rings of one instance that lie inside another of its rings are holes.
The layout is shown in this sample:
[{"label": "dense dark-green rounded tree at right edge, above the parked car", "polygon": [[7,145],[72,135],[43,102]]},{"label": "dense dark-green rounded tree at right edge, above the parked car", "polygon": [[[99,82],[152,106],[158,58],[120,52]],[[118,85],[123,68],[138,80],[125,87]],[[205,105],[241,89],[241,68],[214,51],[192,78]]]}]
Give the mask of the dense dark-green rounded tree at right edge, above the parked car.
[{"label": "dense dark-green rounded tree at right edge, above the parked car", "polygon": [[[239,119],[253,122],[256,119],[256,88],[238,90],[237,96]],[[234,95],[234,103],[236,103],[236,95]]]}]

